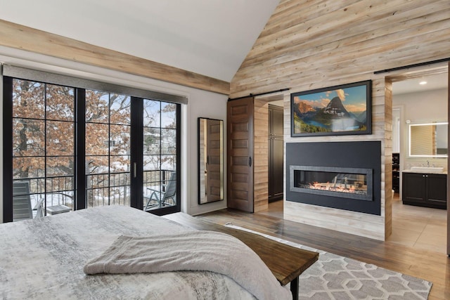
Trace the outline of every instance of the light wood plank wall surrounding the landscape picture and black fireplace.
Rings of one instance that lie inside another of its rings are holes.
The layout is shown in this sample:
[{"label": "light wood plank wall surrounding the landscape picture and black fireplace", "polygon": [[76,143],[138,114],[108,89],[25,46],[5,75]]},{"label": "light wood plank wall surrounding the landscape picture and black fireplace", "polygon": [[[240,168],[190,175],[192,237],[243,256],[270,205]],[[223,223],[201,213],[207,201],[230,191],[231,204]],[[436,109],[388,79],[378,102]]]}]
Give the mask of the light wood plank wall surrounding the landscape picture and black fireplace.
[{"label": "light wood plank wall surrounding the landscape picture and black fireplace", "polygon": [[[285,219],[384,240],[391,233],[392,84],[373,74],[450,56],[449,0],[281,0],[231,81],[231,98],[290,88],[285,142],[381,141],[382,213],[285,202]],[[290,137],[290,94],[371,79],[372,134]]]}]

